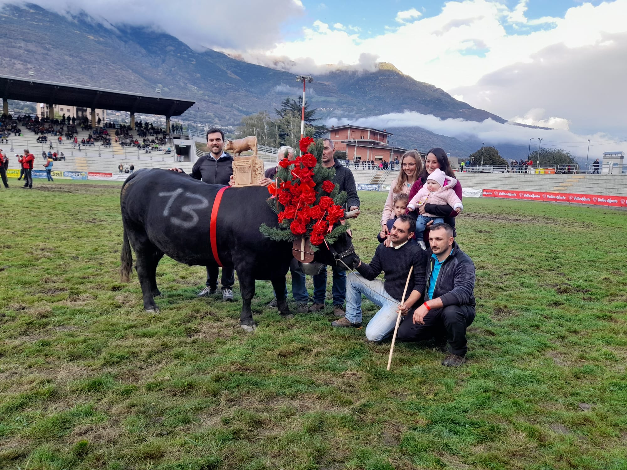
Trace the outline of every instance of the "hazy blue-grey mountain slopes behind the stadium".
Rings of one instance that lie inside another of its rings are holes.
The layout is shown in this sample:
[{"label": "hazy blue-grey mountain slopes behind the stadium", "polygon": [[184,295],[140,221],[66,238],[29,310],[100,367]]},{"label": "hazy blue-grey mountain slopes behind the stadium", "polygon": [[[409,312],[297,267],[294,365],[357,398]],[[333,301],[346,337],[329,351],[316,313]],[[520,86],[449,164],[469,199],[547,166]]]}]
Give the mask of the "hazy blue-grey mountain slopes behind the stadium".
[{"label": "hazy blue-grey mountain slopes behind the stadium", "polygon": [[[167,34],[144,28],[113,29],[85,15],[67,18],[32,4],[0,11],[5,38],[0,68],[6,75],[90,85],[195,100],[181,118],[223,127],[298,94],[292,73],[236,60],[222,53],[196,52]],[[28,31],[28,34],[24,34]],[[335,70],[316,76],[310,99],[319,117],[341,120],[413,110],[440,118],[502,118],[455,100],[436,86],[414,80],[389,64],[357,73]],[[437,142],[470,152],[476,143],[438,136],[421,128],[397,129],[396,144],[430,147]],[[417,142],[421,135],[428,142]],[[452,140],[451,140],[452,139]],[[452,145],[457,142],[457,145]],[[427,145],[428,144],[428,145]]]}]

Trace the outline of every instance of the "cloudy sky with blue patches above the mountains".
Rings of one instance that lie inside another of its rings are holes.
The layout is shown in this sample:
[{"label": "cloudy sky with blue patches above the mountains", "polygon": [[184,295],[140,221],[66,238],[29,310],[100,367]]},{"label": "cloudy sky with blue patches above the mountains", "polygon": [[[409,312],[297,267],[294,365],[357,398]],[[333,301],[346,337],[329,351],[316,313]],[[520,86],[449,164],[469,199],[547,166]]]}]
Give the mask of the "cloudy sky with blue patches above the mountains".
[{"label": "cloudy sky with blue patches above the mountains", "polygon": [[188,0],[196,14],[184,16],[171,0],[33,1],[319,77],[328,64],[391,62],[474,107],[559,129],[565,144],[627,141],[627,0]]}]

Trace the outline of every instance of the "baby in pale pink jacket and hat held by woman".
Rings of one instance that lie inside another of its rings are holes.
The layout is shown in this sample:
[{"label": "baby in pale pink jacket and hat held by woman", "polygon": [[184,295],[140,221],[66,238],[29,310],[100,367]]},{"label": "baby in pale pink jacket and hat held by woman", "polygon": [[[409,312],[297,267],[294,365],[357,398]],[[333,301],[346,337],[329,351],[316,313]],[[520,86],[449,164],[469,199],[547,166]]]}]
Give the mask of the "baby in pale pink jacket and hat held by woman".
[{"label": "baby in pale pink jacket and hat held by woman", "polygon": [[[445,179],[449,180],[446,186],[444,185]],[[457,180],[455,178],[446,176],[445,172],[437,168],[429,175],[426,184],[421,187],[416,196],[409,201],[407,208],[409,211],[414,211],[416,210],[416,207],[422,206],[426,202],[429,204],[436,204],[436,206],[445,206],[448,204],[459,214],[464,207],[461,204],[460,198],[457,197],[455,191],[453,191],[453,187],[455,187],[456,184]],[[424,230],[430,221],[433,221],[434,224],[440,224],[444,222],[444,219],[442,217],[436,217],[432,214],[428,214],[428,212],[424,212],[424,214],[418,216],[416,219],[415,236],[423,249],[424,242],[422,240]]]}]

